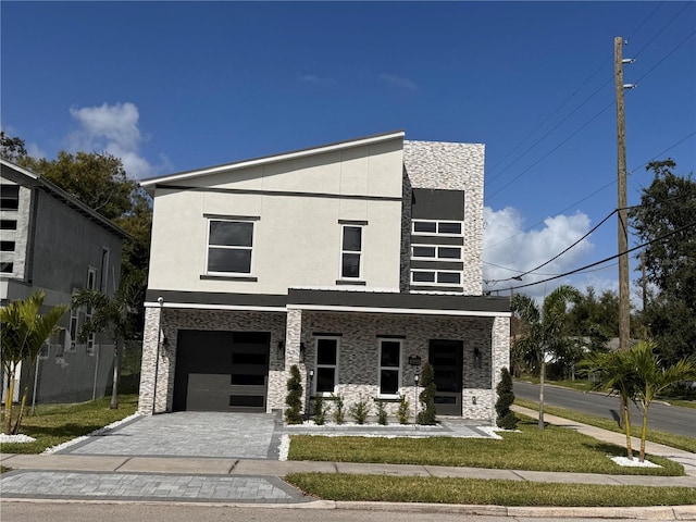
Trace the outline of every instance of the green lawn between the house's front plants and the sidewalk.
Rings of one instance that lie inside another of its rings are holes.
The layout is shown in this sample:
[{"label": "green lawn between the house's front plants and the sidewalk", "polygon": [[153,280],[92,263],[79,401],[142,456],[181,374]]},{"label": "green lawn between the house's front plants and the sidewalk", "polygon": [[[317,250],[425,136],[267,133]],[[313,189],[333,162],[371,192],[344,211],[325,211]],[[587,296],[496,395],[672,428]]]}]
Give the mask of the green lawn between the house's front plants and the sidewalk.
[{"label": "green lawn between the house's front plants and the sidewalk", "polygon": [[624,468],[607,456],[623,456],[621,446],[596,440],[572,430],[540,431],[524,418],[519,433],[489,438],[368,438],[297,435],[290,438],[289,460],[452,465],[574,473],[683,475],[681,464],[650,456],[662,468]]}]

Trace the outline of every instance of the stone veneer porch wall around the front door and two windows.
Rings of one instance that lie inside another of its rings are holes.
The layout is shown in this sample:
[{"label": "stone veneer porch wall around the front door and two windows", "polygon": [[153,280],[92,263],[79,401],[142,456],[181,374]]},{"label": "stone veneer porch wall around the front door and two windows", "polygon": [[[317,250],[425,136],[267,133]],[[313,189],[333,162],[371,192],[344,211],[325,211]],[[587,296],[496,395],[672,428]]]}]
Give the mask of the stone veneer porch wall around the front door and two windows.
[{"label": "stone veneer porch wall around the front door and two windows", "polygon": [[[411,421],[415,409],[415,386],[413,368],[408,364],[409,356],[420,356],[423,362],[428,358],[430,339],[461,339],[463,352],[462,417],[489,422],[495,419],[494,373],[499,360],[504,359],[504,339],[495,326],[502,327],[505,318],[498,324],[494,318],[460,318],[431,315],[393,315],[384,313],[302,313],[301,341],[307,346],[307,356],[300,364],[301,373],[314,368],[315,348],[313,333],[343,334],[338,355],[337,393],[344,396],[346,411],[351,405],[369,400],[372,414],[376,414],[373,398],[378,391],[378,345],[381,335],[403,335],[401,353],[401,395],[410,402]],[[495,338],[495,340],[494,340]],[[490,358],[494,343],[500,353]],[[482,353],[481,363],[474,363],[474,348]],[[507,353],[507,351],[506,351]],[[422,388],[419,388],[421,390]],[[474,397],[476,403],[474,405]],[[398,402],[389,403],[389,422],[396,421]]]}]

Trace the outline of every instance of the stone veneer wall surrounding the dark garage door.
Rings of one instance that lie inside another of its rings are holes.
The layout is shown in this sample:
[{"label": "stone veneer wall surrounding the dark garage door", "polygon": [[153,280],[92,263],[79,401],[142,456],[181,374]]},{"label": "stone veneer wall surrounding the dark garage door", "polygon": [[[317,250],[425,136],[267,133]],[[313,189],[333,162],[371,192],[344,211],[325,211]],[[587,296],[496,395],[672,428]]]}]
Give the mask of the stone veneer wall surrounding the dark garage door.
[{"label": "stone veneer wall surrounding the dark garage door", "polygon": [[285,402],[282,386],[287,381],[285,361],[277,356],[277,344],[285,339],[284,312],[246,312],[227,310],[185,310],[163,309],[160,323],[160,309],[148,308],[145,311],[145,333],[142,340],[142,365],[140,374],[140,396],[138,412],[150,414],[152,390],[154,387],[156,353],[158,345],[158,325],[161,324],[162,338],[166,344],[160,348],[160,361],[157,383],[156,413],[172,411],[174,396],[174,374],[176,364],[176,338],[179,330],[208,330],[228,332],[270,332],[271,352],[269,358],[269,397],[266,410]]}]

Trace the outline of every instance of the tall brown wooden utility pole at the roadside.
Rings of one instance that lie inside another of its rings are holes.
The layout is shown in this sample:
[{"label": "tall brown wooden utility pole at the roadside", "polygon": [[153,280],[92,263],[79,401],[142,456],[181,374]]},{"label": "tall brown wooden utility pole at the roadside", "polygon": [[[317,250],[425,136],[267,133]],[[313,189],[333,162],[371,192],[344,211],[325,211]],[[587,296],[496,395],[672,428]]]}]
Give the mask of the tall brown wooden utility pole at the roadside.
[{"label": "tall brown wooden utility pole at the roadside", "polygon": [[633,60],[624,60],[623,38],[617,36],[613,39],[614,76],[617,88],[617,151],[619,175],[619,349],[627,350],[631,336],[631,311],[629,302],[629,210],[626,198],[626,132],[625,112],[623,105],[623,90],[635,85],[624,85],[623,64],[633,63]]}]

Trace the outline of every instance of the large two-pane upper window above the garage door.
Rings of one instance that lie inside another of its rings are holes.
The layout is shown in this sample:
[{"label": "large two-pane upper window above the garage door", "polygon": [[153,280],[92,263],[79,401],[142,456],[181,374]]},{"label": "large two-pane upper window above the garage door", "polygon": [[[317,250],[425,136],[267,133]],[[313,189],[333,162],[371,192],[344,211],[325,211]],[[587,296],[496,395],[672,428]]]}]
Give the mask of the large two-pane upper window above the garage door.
[{"label": "large two-pane upper window above the garage door", "polygon": [[210,220],[208,272],[251,273],[253,222]]}]

